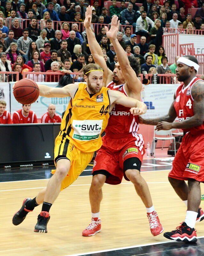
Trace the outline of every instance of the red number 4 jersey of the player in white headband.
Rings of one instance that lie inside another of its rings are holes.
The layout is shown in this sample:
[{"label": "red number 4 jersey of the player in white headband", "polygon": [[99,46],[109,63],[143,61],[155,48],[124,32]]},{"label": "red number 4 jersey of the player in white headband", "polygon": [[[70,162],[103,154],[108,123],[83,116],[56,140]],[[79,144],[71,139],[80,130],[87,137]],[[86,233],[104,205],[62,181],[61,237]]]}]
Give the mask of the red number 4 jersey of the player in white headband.
[{"label": "red number 4 jersey of the player in white headband", "polygon": [[[174,108],[177,113],[179,121],[184,121],[185,119],[194,116],[193,112],[193,97],[191,94],[191,89],[193,84],[197,81],[203,81],[200,78],[194,77],[191,82],[184,88],[184,83],[180,84],[175,92],[176,100],[174,101]],[[204,130],[204,122],[199,125],[189,129],[182,129],[184,132],[191,132],[192,134],[197,134],[199,131]]]}]

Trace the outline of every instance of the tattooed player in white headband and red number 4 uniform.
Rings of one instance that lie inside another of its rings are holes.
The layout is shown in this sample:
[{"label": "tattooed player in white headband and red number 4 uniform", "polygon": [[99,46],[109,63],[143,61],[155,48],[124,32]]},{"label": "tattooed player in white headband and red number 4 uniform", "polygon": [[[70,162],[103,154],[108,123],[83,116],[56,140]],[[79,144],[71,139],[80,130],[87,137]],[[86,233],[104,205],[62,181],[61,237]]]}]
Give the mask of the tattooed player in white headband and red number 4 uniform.
[{"label": "tattooed player in white headband and red number 4 uniform", "polygon": [[[169,182],[187,206],[184,222],[164,233],[171,240],[197,241],[195,222],[204,219],[200,205],[200,182],[204,182],[204,82],[196,78],[198,60],[186,55],[177,60],[176,75],[183,82],[177,87],[169,113],[155,119],[139,118],[142,124],[157,125],[156,130],[182,129],[186,134],[169,172]],[[180,122],[174,122],[178,117]],[[188,185],[184,180],[188,180]]]}]

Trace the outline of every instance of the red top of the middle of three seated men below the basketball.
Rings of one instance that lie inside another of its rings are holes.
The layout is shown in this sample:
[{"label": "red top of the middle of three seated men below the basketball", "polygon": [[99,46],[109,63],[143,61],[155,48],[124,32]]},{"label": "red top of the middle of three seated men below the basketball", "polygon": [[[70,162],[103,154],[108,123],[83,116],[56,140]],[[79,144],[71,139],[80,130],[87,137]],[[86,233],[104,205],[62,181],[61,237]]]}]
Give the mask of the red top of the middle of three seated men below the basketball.
[{"label": "red top of the middle of three seated men below the basketball", "polygon": [[28,116],[23,115],[23,110],[17,110],[13,113],[14,124],[33,124],[37,123],[37,117],[34,111],[29,111]]}]

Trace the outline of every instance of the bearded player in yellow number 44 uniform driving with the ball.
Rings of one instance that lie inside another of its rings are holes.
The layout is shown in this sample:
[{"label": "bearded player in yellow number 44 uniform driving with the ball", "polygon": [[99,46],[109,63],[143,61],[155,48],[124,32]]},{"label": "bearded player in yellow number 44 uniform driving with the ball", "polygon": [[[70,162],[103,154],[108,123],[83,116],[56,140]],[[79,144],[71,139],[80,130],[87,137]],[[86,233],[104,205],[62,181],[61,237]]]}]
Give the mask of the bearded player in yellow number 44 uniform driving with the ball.
[{"label": "bearded player in yellow number 44 uniform driving with the ball", "polygon": [[34,232],[47,233],[49,210],[59,192],[72,184],[90,163],[94,151],[101,147],[101,133],[107,126],[109,112],[115,104],[129,107],[133,115],[146,112],[146,105],[118,91],[103,87],[103,69],[98,64],[89,64],[84,70],[87,84],[69,84],[63,88],[38,85],[40,96],[71,97],[63,116],[58,137],[55,140],[54,161],[56,171],[47,188],[34,198],[25,198],[22,207],[13,216],[14,225],[19,225],[28,212],[43,203],[42,212]]}]

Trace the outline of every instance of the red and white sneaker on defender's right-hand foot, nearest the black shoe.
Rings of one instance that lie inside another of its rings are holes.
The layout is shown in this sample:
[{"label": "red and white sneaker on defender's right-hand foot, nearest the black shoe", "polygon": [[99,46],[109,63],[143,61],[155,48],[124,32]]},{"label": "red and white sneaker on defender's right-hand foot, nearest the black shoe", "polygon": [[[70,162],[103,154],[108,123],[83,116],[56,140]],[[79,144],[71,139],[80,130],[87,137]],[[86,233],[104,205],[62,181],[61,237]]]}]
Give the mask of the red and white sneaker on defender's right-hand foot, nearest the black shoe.
[{"label": "red and white sneaker on defender's right-hand foot, nearest the black shoe", "polygon": [[149,220],[150,231],[152,235],[158,236],[159,234],[161,234],[164,228],[161,226],[157,213],[155,211],[147,213],[147,218]]}]

